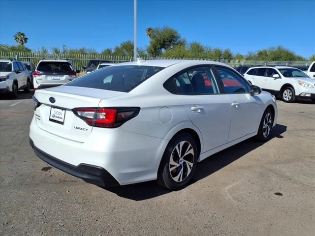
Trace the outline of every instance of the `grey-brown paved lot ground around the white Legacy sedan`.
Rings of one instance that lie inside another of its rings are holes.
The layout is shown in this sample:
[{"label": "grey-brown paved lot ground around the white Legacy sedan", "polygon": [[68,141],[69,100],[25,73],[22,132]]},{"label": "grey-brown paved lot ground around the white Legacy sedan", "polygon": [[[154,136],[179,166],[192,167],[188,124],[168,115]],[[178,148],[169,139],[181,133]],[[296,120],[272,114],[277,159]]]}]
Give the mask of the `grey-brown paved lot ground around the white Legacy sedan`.
[{"label": "grey-brown paved lot ground around the white Legacy sedan", "polygon": [[313,236],[315,104],[277,101],[265,143],[198,163],[191,184],[102,189],[41,161],[29,145],[31,94],[0,99],[0,235]]}]

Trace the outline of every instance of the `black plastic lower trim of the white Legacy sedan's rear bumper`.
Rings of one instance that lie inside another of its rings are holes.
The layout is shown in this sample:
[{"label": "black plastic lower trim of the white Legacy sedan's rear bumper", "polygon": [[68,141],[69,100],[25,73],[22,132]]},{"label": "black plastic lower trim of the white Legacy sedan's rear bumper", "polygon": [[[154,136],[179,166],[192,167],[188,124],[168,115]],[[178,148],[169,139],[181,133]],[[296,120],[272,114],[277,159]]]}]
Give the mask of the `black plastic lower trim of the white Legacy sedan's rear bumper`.
[{"label": "black plastic lower trim of the white Legacy sedan's rear bumper", "polygon": [[93,183],[101,187],[112,187],[120,185],[119,182],[111,174],[109,174],[105,169],[101,167],[89,164],[80,164],[78,166],[73,166],[45,153],[39,148],[36,148],[31,138],[30,145],[33,148],[35,154],[40,159],[67,174],[82,178],[88,183]]}]

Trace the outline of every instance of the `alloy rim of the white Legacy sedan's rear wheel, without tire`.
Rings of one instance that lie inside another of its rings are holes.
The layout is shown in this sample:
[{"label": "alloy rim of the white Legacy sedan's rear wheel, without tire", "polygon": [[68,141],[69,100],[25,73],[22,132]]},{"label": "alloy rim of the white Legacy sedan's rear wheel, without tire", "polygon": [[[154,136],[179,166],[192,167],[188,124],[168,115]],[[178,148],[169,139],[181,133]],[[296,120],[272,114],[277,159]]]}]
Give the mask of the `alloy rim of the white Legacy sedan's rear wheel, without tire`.
[{"label": "alloy rim of the white Legacy sedan's rear wheel, without tire", "polygon": [[188,141],[181,141],[172,151],[169,173],[176,182],[184,181],[190,174],[194,163],[194,151]]}]

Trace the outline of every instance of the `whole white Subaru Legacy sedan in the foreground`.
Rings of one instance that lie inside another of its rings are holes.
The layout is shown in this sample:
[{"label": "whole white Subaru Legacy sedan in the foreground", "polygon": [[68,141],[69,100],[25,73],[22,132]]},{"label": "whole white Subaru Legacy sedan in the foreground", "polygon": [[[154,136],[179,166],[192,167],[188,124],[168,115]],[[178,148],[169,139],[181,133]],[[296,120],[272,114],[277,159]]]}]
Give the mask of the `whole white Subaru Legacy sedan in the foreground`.
[{"label": "whole white Subaru Legacy sedan in the foreground", "polygon": [[30,144],[102,187],[157,180],[175,190],[197,162],[252,136],[267,141],[275,97],[213,61],[140,60],[36,90]]}]

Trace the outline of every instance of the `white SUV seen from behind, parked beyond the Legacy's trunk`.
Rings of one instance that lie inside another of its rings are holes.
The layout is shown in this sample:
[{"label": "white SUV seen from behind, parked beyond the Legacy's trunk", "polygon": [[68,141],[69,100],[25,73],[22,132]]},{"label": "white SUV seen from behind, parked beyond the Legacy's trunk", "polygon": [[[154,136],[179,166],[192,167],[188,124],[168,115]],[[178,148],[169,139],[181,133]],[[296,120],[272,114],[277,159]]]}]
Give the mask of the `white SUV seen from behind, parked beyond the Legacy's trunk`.
[{"label": "white SUV seen from behind, parked beyond the Legacy's trunk", "polygon": [[40,60],[33,75],[34,89],[60,86],[77,78],[77,72],[71,61],[63,59]]}]

